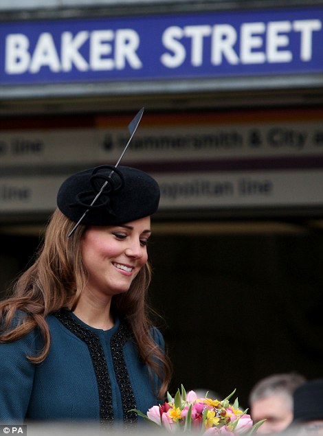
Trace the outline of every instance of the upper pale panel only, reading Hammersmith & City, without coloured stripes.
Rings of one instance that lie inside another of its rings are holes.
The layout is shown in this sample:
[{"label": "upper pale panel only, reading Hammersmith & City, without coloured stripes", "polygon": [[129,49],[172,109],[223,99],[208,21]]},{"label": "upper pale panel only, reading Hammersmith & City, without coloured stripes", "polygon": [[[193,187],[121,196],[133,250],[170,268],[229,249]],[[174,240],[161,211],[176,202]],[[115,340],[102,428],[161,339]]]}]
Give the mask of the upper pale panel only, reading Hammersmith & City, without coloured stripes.
[{"label": "upper pale panel only, reading Hammersmith & City, without coloured stripes", "polygon": [[[124,128],[5,131],[0,133],[0,171],[16,165],[113,164],[128,139]],[[140,126],[124,162],[315,155],[323,157],[322,122],[192,124]]]}]

